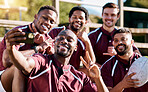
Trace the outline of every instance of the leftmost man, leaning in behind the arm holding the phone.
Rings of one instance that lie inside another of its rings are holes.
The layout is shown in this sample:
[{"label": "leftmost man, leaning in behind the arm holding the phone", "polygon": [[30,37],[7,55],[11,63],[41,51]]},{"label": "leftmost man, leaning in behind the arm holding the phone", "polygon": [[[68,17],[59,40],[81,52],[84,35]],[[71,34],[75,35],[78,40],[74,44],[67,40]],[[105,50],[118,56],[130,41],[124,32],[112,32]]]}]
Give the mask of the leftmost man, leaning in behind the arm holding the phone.
[{"label": "leftmost man, leaning in behind the arm holding the phone", "polygon": [[[34,50],[30,50],[30,49],[33,49],[35,46],[39,46],[40,43],[42,43],[47,39],[51,40],[51,37],[48,36],[47,33],[54,27],[57,20],[57,16],[58,14],[54,7],[48,6],[48,5],[42,6],[39,9],[38,13],[35,14],[34,21],[31,24],[18,26],[10,30],[9,32],[12,33],[11,36],[16,37],[17,39],[20,39],[19,38],[20,34],[21,34],[20,36],[23,36],[25,35],[26,32],[36,33],[36,36],[34,38],[34,43],[32,44],[24,43],[23,45],[19,44],[19,45],[16,45],[16,49],[19,51],[22,51],[24,55],[28,55],[30,53],[34,53]],[[6,33],[6,36],[7,36],[7,33]],[[15,73],[17,72],[17,69],[15,69],[15,67],[12,65],[11,61],[9,60],[8,52],[6,50],[5,37],[0,44],[0,70],[2,71],[2,70],[5,70],[6,68],[7,69],[1,75],[1,82],[5,90],[7,92],[11,92],[12,89],[16,87],[16,83],[14,87],[12,87],[12,81],[18,78],[16,76],[19,76],[19,73]],[[13,40],[13,39],[10,39],[10,40]],[[24,37],[21,40],[22,41],[26,40],[26,38]],[[3,59],[3,62],[2,62],[2,59]],[[21,83],[23,84],[24,78],[23,79],[21,77],[19,78],[21,79]],[[16,82],[16,81],[13,81],[13,82]]]}]

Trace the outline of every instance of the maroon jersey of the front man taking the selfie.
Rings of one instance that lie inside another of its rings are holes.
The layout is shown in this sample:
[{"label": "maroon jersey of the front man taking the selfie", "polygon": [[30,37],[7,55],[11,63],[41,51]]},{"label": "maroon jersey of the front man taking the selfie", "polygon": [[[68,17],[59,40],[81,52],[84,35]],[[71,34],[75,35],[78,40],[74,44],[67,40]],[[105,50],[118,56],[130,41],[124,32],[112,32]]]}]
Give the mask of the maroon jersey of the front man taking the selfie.
[{"label": "maroon jersey of the front man taking the selfie", "polygon": [[62,65],[54,55],[35,54],[35,67],[28,77],[27,92],[96,92],[85,73]]}]

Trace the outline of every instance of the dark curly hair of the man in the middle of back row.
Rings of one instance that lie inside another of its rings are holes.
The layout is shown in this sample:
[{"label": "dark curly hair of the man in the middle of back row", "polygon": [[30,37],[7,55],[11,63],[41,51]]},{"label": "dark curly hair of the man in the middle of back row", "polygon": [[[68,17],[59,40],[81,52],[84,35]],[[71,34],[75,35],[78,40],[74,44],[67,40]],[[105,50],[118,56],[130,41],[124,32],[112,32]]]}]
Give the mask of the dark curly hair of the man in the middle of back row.
[{"label": "dark curly hair of the man in the middle of back row", "polygon": [[72,16],[73,12],[76,11],[76,10],[83,11],[85,13],[86,20],[88,20],[88,17],[89,17],[88,11],[87,11],[87,9],[85,9],[84,7],[81,7],[81,6],[73,7],[69,12],[69,18]]}]

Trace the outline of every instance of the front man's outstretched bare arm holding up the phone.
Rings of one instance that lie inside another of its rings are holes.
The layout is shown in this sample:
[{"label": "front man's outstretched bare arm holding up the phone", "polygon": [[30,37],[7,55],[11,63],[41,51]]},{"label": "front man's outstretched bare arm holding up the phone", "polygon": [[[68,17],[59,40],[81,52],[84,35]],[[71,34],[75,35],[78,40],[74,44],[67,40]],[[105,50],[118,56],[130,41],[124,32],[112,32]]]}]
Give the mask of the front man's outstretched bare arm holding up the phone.
[{"label": "front man's outstretched bare arm holding up the phone", "polygon": [[[25,33],[18,31],[18,30],[12,30],[9,31],[6,34],[6,50],[9,54],[9,58],[11,62],[24,74],[29,74],[33,67],[35,66],[35,62],[31,58],[26,58],[24,55],[16,50],[15,45],[18,45],[19,43],[16,43],[16,41],[25,40],[25,37],[21,37]],[[17,36],[17,37],[16,37]]]}]

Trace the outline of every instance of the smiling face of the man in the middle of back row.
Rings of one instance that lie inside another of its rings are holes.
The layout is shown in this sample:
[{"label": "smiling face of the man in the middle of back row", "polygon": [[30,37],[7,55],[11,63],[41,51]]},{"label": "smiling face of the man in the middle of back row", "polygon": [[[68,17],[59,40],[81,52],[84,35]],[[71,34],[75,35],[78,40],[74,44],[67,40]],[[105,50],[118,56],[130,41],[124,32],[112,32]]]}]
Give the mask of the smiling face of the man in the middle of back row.
[{"label": "smiling face of the man in the middle of back row", "polygon": [[69,23],[71,30],[78,32],[87,23],[87,20],[85,18],[85,13],[80,10],[74,11],[72,16],[69,18]]}]

